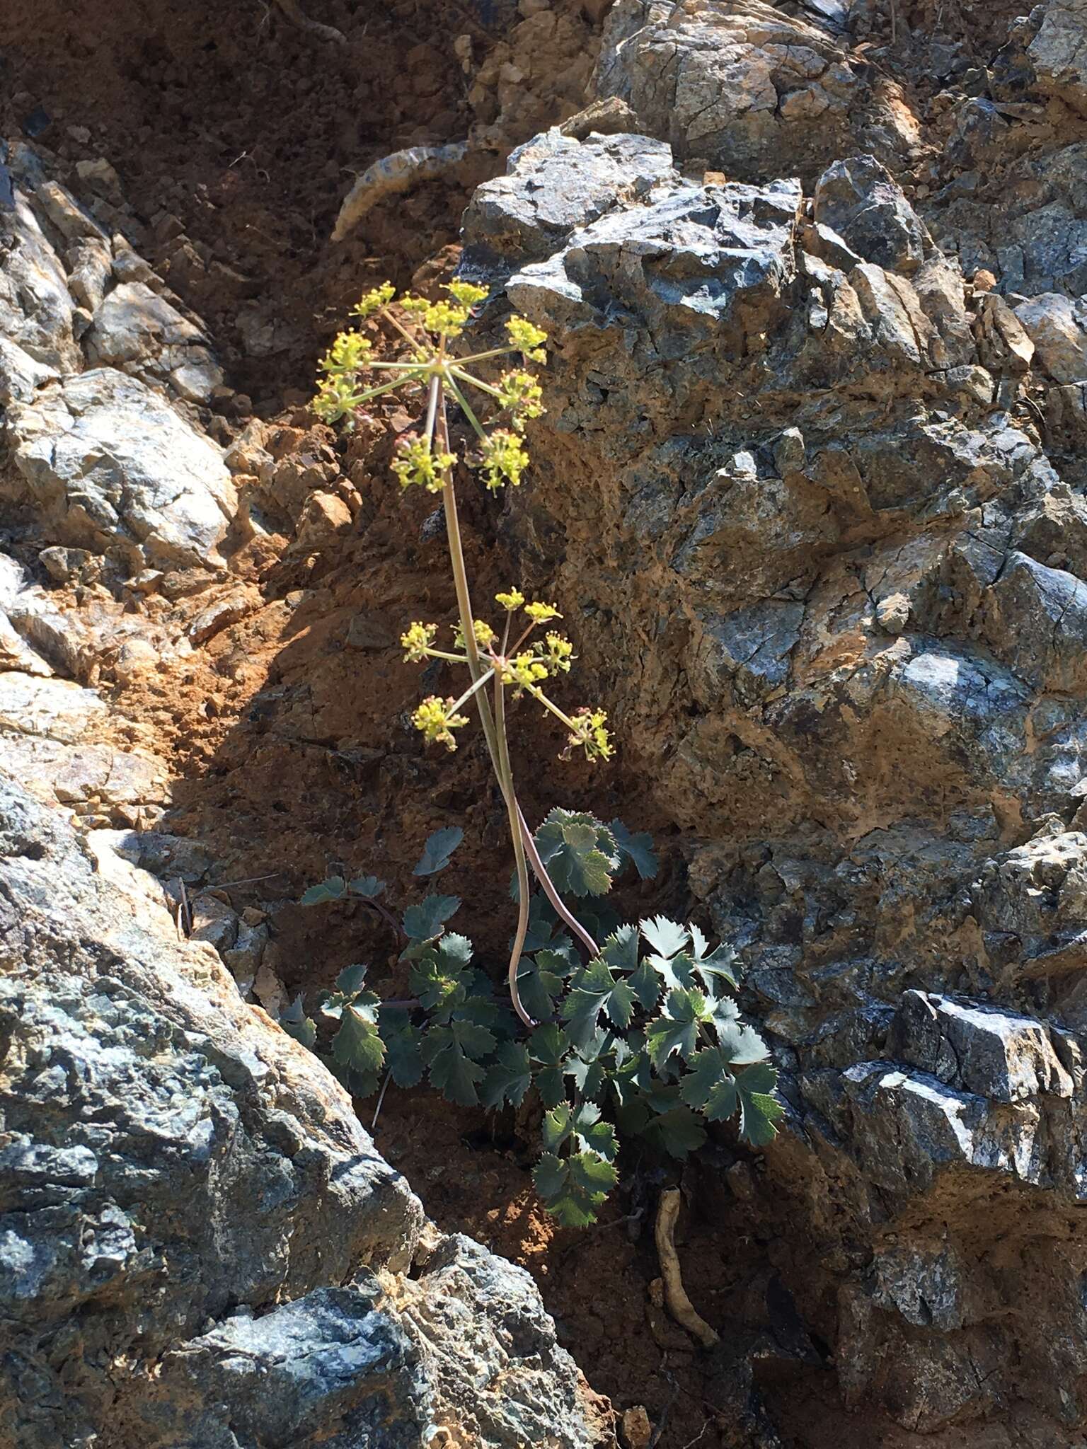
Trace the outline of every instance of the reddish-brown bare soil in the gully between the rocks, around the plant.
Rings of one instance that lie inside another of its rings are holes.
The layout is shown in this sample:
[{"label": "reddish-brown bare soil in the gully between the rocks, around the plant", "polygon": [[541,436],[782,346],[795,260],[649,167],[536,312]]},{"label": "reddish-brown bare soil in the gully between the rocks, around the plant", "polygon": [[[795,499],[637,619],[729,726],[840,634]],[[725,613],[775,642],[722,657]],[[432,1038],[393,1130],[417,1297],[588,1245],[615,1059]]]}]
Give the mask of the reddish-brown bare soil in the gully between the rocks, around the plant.
[{"label": "reddish-brown bare soil in the gully between the rocks, around the plant", "polygon": [[[459,823],[467,843],[441,884],[468,903],[462,929],[497,975],[510,932],[501,803],[478,739],[452,756],[420,746],[406,723],[417,671],[391,645],[409,619],[452,617],[443,538],[428,523],[433,500],[404,500],[387,481],[388,436],[407,419],[390,412],[345,446],[312,426],[303,403],[316,356],[359,290],[386,275],[404,283],[423,264],[433,278],[448,264],[443,248],[480,178],[429,185],[332,249],[326,238],[352,174],[399,146],[465,135],[464,78],[448,38],[468,33],[486,49],[512,10],[500,0],[307,0],[307,9],[348,43],[316,41],[264,0],[7,0],[0,123],[17,135],[41,109],[41,143],[72,161],[104,155],[117,168],[133,241],[207,322],[241,394],[223,409],[222,435],[238,430],[252,400],[278,419],[277,456],[297,459],[303,481],[317,459],[322,485],[352,500],[351,525],[316,545],[272,538],[251,546],[239,561],[248,617],[184,668],[119,700],[136,722],[129,733],[174,762],[171,829],[212,848],[220,881],[271,877],[232,888],[230,898],[270,911],[270,964],[288,991],[309,991],[349,961],[386,964],[390,942],[362,907],[291,904],[304,885],[348,867],[384,877],[404,900],[425,836]],[[87,128],[90,141],[68,128]],[[487,164],[497,170],[499,159]],[[257,356],[238,327],[254,307],[280,339]],[[464,522],[480,594],[507,585],[516,568],[499,545],[494,500],[472,496]],[[346,629],[358,614],[390,643],[351,648]],[[591,697],[593,681],[575,690]],[[654,830],[664,869],[626,904],[684,911],[678,845],[646,814],[639,781],[622,759],[596,771],[558,764],[561,743],[526,714],[516,767],[529,817],[577,803]],[[359,1107],[368,1120],[372,1104]],[[530,1191],[529,1129],[393,1091],[375,1136],[442,1227],[530,1269],[593,1388],[617,1411],[644,1404],[661,1449],[751,1442],[715,1397],[719,1365],[652,1304],[659,1172],[629,1162],[604,1226],[557,1232]],[[765,1329],[772,1300],[767,1245],[742,1193],[725,1185],[742,1187],[749,1169],[741,1164],[741,1177],[726,1179],[732,1164],[717,1146],[687,1171],[693,1208],[681,1232],[691,1297],[726,1342]]]}]

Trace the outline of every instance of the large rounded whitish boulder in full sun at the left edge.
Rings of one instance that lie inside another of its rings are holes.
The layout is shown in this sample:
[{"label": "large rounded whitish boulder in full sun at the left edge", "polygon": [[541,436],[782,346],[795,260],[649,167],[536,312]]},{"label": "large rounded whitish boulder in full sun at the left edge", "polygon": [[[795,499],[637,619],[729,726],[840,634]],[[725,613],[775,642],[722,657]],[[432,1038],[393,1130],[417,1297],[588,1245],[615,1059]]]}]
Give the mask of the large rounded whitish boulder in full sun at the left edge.
[{"label": "large rounded whitish boulder in full sun at the left edge", "polygon": [[[59,543],[217,569],[236,509],[219,449],[136,378],[97,368],[9,414],[22,487]],[[10,488],[10,484],[9,484]]]}]

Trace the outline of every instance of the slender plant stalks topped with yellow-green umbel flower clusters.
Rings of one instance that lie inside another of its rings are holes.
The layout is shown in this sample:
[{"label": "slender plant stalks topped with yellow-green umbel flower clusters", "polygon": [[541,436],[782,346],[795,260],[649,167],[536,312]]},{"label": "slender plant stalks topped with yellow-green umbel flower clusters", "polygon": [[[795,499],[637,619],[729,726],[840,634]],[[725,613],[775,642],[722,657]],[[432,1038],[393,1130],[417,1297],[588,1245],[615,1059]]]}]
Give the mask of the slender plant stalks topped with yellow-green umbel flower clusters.
[{"label": "slender plant stalks topped with yellow-green umbel flower clusters", "polygon": [[[496,596],[504,613],[500,629],[472,610],[457,513],[457,458],[449,442],[448,404],[452,401],[459,407],[475,435],[477,449],[467,461],[478,468],[486,487],[516,488],[529,465],[525,425],[544,413],[541,385],[528,371],[528,364],[546,361],[546,333],[526,317],[510,317],[506,346],[457,356],[451,345],[462,336],[472,309],[487,298],[487,290],[464,281],[449,283],[445,290],[448,298],[439,301],[401,297],[396,312],[390,310],[394,300],[390,283],[367,293],[352,314],[361,323],[386,320],[399,335],[403,355],[375,359],[370,338],[357,330],[342,332],[320,362],[323,375],[313,409],[325,422],[345,420],[351,427],[367,403],[393,391],[406,398],[415,397],[422,404],[420,427],[401,439],[393,474],[403,488],[422,487],[442,496],[459,623],[454,630],[452,649],[438,648],[438,625],[423,622],[412,623],[400,642],[409,664],[428,659],[459,664],[468,671],[470,684],[459,698],[425,698],[413,714],[413,723],[428,742],[457,749],[455,732],[468,723],[461,710],[468,701],[475,703],[509,816],[517,872],[517,929],[507,972],[510,1000],[520,1020],[533,1027],[536,1022],[525,1010],[517,990],[529,924],[529,869],[561,920],[591,956],[597,955],[597,945],[561,900],[517,803],[509,749],[507,691],[513,691],[513,698],[529,696],[564,724],[567,755],[583,749],[590,761],[610,759],[613,746],[603,710],[581,709],[568,714],[545,690],[545,684],[549,688],[552,680],[570,672],[575,658],[571,642],[557,630],[546,632],[542,639],[535,636],[542,625],[561,619],[554,604],[526,603],[519,588],[500,593]],[[501,372],[496,381],[480,377],[481,364],[501,358],[519,358],[520,364]]]}]

